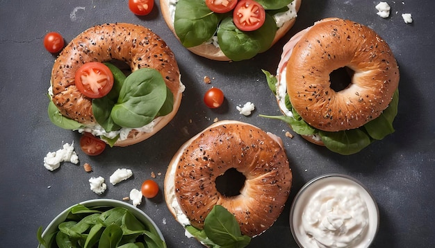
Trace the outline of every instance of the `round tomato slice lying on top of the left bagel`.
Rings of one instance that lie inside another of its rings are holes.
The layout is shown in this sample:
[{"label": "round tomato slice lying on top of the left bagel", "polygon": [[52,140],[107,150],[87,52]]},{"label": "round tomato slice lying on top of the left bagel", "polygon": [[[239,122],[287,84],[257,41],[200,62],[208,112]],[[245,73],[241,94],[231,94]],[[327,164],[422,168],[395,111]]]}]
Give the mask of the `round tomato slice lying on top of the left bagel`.
[{"label": "round tomato slice lying on top of the left bagel", "polygon": [[106,64],[88,62],[76,71],[76,87],[89,98],[106,96],[113,87],[113,74]]}]

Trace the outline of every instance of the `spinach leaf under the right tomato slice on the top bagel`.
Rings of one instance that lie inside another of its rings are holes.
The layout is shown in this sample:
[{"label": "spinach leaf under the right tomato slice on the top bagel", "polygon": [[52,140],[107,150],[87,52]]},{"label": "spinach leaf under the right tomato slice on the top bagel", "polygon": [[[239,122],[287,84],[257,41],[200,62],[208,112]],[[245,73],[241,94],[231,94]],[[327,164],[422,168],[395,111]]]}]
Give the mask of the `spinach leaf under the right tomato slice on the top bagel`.
[{"label": "spinach leaf under the right tomato slice on the top bagel", "polygon": [[275,33],[277,33],[277,24],[274,18],[267,13],[263,26],[249,32],[239,30],[233,18],[227,17],[222,20],[217,29],[217,41],[222,52],[231,60],[248,60],[268,50]]}]

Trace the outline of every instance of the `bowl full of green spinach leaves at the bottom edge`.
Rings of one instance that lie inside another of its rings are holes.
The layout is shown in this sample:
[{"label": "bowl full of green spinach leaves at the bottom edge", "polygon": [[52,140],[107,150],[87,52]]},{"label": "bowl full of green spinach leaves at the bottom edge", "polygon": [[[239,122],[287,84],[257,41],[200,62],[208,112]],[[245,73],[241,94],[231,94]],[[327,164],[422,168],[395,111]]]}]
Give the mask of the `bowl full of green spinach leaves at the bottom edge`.
[{"label": "bowl full of green spinach leaves at the bottom edge", "polygon": [[97,199],[70,206],[42,232],[38,247],[166,247],[163,234],[140,209]]}]

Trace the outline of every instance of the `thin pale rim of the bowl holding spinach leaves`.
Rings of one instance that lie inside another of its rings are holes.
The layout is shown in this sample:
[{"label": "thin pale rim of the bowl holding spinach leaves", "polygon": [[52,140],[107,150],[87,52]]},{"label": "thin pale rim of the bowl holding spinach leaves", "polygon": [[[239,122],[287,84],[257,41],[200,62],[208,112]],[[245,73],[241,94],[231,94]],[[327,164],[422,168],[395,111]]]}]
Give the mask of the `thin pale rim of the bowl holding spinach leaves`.
[{"label": "thin pale rim of the bowl holding spinach leaves", "polygon": [[[95,199],[95,200],[88,200],[85,202],[80,202],[83,206],[91,207],[91,206],[108,206],[108,207],[124,207],[125,209],[128,209],[133,215],[138,218],[140,222],[148,222],[151,223],[152,226],[156,229],[158,236],[165,241],[165,238],[163,238],[163,234],[161,233],[160,229],[158,229],[156,223],[149,218],[147,214],[145,214],[143,211],[138,209],[136,206],[133,206],[131,204],[128,204],[126,202],[122,202],[119,200],[112,200],[112,199]],[[76,206],[74,204],[73,206]],[[58,230],[58,225],[62,222],[64,222],[67,218],[67,215],[69,213],[69,210],[73,207],[70,206],[69,208],[62,211],[62,213],[59,213],[54,220],[52,220],[47,228],[42,232],[42,238],[44,238],[49,233],[54,233]]]}]

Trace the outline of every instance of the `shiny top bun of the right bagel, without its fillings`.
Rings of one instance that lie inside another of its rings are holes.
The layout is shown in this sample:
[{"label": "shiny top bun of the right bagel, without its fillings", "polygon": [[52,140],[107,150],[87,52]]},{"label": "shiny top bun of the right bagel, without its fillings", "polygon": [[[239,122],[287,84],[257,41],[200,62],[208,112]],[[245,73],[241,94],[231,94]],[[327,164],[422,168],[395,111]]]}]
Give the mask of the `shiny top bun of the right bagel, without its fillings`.
[{"label": "shiny top bun of the right bagel, without its fillings", "polygon": [[[388,44],[374,30],[354,21],[318,21],[294,45],[286,64],[287,93],[309,125],[328,132],[350,130],[377,118],[399,83],[399,69]],[[329,75],[353,71],[345,89],[331,89]]]}]

